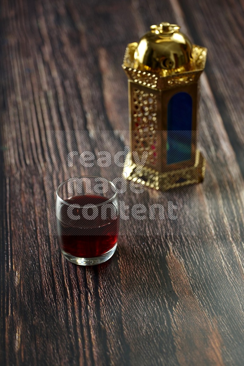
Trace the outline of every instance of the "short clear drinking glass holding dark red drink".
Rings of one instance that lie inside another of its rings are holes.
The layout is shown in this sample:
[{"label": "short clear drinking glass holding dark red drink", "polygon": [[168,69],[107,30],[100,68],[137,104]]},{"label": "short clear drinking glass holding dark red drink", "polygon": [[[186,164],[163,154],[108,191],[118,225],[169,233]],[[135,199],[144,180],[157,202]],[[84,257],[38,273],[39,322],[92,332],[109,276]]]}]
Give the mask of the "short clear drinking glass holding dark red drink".
[{"label": "short clear drinking glass holding dark red drink", "polygon": [[119,202],[115,184],[98,176],[70,178],[56,191],[57,234],[62,254],[88,266],[115,253]]}]

